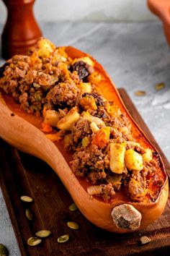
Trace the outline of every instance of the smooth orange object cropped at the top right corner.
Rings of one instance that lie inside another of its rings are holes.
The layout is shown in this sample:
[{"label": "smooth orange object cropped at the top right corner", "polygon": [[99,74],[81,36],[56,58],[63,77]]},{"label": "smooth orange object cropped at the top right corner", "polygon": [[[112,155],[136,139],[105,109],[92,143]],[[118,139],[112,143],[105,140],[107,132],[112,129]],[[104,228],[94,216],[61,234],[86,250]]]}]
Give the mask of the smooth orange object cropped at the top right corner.
[{"label": "smooth orange object cropped at the top right corner", "polygon": [[170,45],[170,0],[148,0],[148,7],[162,20],[166,39]]}]

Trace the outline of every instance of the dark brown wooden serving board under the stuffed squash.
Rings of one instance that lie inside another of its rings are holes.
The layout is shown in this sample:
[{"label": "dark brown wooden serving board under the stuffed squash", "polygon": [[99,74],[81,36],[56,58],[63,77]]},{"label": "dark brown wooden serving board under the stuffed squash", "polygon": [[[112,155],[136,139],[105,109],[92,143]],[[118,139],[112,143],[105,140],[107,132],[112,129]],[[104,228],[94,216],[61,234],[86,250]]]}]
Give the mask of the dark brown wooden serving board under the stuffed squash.
[{"label": "dark brown wooden serving board under the stuffed squash", "polygon": [[[125,90],[120,95],[130,114],[146,133],[164,159],[170,176],[170,166],[164,153],[158,147],[138,111]],[[9,216],[23,256],[123,256],[123,255],[169,255],[170,252],[170,200],[158,221],[148,228],[133,234],[113,234],[97,228],[76,210],[68,210],[73,203],[55,172],[43,161],[19,152],[0,142],[0,183],[4,193]],[[34,202],[24,205],[20,196],[30,195]],[[33,221],[25,217],[25,209],[35,215]],[[67,221],[76,221],[79,230],[69,229]],[[29,247],[27,239],[35,232],[49,229],[52,235],[43,239],[37,247]],[[68,242],[58,244],[58,236],[69,234]],[[151,237],[151,242],[140,245],[140,236]]]}]

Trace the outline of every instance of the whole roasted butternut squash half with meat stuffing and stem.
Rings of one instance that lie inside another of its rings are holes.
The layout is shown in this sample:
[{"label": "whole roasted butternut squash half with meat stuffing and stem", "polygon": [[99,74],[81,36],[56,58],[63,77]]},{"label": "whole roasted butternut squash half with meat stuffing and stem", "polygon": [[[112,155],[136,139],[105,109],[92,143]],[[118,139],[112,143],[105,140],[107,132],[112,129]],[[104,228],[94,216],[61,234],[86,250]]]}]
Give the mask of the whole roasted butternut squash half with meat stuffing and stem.
[{"label": "whole roasted butternut squash half with meat stuffing and stem", "polygon": [[0,69],[0,136],[46,161],[89,221],[127,233],[161,216],[160,155],[91,56],[41,39]]}]

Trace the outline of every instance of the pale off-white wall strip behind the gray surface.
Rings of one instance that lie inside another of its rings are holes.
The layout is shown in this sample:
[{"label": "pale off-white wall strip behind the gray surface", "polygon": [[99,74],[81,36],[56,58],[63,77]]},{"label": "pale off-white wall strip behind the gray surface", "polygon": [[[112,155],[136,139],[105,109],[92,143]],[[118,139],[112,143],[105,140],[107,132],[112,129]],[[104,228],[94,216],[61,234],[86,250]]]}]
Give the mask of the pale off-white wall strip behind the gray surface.
[{"label": "pale off-white wall strip behind the gray surface", "polygon": [[[4,22],[6,9],[2,1],[0,10],[0,22]],[[36,0],[35,15],[42,22],[156,20],[145,0]]]}]

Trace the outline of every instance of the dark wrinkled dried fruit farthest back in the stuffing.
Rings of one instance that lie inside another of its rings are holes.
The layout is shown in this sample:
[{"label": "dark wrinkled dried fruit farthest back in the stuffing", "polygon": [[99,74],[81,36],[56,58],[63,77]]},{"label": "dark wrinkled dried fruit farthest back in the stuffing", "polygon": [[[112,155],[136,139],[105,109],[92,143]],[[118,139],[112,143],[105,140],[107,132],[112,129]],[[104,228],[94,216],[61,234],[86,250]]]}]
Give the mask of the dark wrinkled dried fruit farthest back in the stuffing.
[{"label": "dark wrinkled dried fruit farthest back in the stuffing", "polygon": [[89,65],[86,64],[84,61],[77,61],[73,64],[73,70],[79,74],[79,78],[84,80],[86,77],[89,76]]}]

